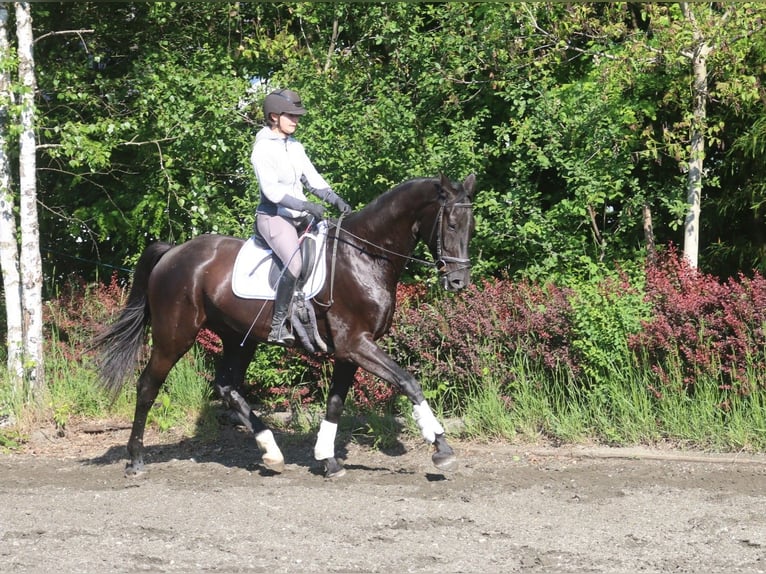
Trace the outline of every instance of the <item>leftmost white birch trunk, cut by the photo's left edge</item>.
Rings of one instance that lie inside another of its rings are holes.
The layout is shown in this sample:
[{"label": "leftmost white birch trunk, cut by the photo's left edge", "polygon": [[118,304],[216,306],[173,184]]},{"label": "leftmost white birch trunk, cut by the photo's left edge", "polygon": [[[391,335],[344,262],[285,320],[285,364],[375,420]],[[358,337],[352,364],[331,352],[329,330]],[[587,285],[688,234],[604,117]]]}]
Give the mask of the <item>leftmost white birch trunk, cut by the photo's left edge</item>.
[{"label": "leftmost white birch trunk, cut by the photo's left edge", "polygon": [[19,249],[16,240],[15,201],[11,189],[8,158],[8,128],[11,125],[11,46],[8,40],[8,5],[0,4],[0,271],[3,276],[6,314],[8,375],[14,384],[23,381],[23,341],[21,323],[21,281]]}]

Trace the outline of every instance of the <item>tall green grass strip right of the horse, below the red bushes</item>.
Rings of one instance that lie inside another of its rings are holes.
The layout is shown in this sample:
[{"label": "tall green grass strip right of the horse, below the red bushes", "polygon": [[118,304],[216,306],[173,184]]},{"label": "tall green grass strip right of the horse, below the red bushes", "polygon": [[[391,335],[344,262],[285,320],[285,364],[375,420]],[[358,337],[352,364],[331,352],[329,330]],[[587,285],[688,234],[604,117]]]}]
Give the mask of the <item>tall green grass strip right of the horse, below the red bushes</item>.
[{"label": "tall green grass strip right of the horse, below the red bushes", "polygon": [[[565,371],[551,376],[549,369],[517,354],[502,377],[488,362],[482,376],[465,386],[459,412],[445,413],[438,396],[432,407],[444,416],[461,417],[468,439],[766,450],[766,393],[736,394],[722,390],[721,381],[704,378],[688,389],[680,370],[667,371],[670,382],[658,394],[652,370],[629,354],[597,380]],[[439,385],[443,381],[430,384]]]}]

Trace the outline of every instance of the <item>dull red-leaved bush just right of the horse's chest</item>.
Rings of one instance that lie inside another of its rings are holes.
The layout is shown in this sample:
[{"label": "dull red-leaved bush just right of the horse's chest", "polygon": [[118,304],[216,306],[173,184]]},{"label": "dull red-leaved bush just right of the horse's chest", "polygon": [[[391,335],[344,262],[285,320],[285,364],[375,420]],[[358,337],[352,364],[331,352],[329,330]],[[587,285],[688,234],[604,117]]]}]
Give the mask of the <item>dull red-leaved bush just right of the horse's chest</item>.
[{"label": "dull red-leaved bush just right of the horse's chest", "polygon": [[400,301],[388,348],[402,364],[458,387],[482,376],[488,362],[497,365],[496,380],[509,382],[518,352],[578,372],[570,294],[553,284],[487,279],[454,296]]}]

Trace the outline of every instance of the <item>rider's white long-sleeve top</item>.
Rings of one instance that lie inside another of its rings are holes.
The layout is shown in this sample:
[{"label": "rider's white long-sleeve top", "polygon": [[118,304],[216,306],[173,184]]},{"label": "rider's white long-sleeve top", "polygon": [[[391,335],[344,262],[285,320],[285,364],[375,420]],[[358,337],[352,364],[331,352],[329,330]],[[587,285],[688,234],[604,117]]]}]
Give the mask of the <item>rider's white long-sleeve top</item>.
[{"label": "rider's white long-sleeve top", "polygon": [[330,185],[311,163],[303,144],[268,126],[256,134],[250,161],[261,190],[258,213],[299,217],[301,212],[280,204],[285,196],[306,201],[304,186],[320,199],[325,199],[330,191]]}]

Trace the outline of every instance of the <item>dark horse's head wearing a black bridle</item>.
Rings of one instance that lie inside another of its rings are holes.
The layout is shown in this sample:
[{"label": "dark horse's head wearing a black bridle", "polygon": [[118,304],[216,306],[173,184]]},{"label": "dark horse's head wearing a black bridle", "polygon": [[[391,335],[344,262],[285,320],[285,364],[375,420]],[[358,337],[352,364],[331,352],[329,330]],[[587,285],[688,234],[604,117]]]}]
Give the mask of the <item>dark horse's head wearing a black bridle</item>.
[{"label": "dark horse's head wearing a black bridle", "polygon": [[471,282],[468,242],[474,230],[473,206],[476,176],[453,183],[443,175],[439,191],[440,208],[427,239],[439,272],[439,284],[447,291],[459,291]]}]

